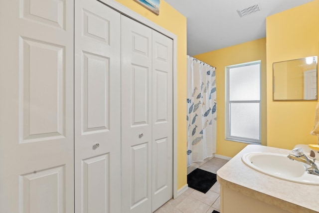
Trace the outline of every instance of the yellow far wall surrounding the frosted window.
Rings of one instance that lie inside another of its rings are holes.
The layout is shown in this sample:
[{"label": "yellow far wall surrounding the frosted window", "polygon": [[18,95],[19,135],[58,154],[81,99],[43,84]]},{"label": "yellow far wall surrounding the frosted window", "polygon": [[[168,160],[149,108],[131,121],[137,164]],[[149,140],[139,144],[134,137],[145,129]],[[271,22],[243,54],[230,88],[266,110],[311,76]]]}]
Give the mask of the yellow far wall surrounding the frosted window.
[{"label": "yellow far wall surrounding the frosted window", "polygon": [[225,140],[225,66],[261,60],[262,144],[266,145],[266,38],[195,55],[216,67],[217,155],[234,157],[247,144]]}]

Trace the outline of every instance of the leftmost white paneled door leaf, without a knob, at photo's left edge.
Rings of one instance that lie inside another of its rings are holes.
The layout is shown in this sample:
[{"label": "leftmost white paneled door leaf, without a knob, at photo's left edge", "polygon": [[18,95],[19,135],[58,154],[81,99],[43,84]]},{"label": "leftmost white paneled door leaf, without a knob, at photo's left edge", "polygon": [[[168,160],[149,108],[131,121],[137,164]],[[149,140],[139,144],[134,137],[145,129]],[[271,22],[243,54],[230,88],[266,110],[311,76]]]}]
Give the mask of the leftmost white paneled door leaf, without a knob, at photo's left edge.
[{"label": "leftmost white paneled door leaf, without a knob, at photo's left edge", "polygon": [[0,0],[0,213],[73,213],[73,1]]}]

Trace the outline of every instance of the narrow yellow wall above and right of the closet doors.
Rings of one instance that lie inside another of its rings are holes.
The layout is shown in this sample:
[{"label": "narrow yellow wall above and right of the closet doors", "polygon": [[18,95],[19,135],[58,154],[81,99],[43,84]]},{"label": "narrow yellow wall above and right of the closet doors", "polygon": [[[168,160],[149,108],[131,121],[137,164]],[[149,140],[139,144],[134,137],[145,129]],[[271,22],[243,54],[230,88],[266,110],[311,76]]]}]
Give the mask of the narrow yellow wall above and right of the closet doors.
[{"label": "narrow yellow wall above and right of the closet doors", "polygon": [[116,0],[131,10],[177,35],[177,189],[187,183],[186,167],[186,18],[160,0],[160,15],[156,15],[134,0]]}]

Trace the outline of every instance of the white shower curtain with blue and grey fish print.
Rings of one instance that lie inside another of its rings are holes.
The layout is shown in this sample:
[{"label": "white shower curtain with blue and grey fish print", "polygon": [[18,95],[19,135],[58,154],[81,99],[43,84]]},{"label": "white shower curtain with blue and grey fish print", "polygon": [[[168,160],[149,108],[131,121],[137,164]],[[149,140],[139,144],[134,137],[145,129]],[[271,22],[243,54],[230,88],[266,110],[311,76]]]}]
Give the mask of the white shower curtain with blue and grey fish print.
[{"label": "white shower curtain with blue and grey fish print", "polygon": [[215,67],[187,56],[187,167],[216,152]]}]

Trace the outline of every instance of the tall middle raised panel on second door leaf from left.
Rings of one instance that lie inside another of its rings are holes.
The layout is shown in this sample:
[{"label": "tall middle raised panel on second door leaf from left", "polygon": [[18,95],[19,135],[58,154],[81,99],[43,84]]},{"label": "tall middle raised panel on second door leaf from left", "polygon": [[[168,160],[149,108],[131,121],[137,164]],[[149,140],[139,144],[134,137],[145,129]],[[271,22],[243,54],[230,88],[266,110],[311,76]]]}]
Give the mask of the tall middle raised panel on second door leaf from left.
[{"label": "tall middle raised panel on second door leaf from left", "polygon": [[82,131],[107,131],[110,126],[110,58],[89,52],[82,54]]}]

